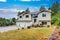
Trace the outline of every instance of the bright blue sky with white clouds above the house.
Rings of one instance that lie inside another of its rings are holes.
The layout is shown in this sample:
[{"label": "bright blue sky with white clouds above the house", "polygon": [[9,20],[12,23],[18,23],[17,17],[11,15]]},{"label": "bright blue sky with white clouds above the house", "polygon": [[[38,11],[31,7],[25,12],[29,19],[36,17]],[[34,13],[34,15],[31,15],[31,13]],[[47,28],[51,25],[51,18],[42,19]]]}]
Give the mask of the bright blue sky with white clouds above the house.
[{"label": "bright blue sky with white clouds above the house", "polygon": [[17,18],[18,11],[24,11],[27,8],[30,11],[38,11],[41,6],[48,9],[56,1],[60,3],[60,0],[0,0],[0,17]]}]

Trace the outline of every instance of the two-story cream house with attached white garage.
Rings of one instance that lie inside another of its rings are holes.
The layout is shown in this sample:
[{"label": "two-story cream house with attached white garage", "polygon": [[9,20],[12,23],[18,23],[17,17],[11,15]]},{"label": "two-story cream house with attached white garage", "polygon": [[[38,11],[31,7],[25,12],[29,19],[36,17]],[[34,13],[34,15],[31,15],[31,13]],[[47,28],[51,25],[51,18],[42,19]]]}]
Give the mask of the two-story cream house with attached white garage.
[{"label": "two-story cream house with attached white garage", "polygon": [[27,27],[32,24],[38,24],[43,26],[51,26],[51,10],[30,12],[30,13],[21,13],[18,15],[16,22],[17,26]]}]

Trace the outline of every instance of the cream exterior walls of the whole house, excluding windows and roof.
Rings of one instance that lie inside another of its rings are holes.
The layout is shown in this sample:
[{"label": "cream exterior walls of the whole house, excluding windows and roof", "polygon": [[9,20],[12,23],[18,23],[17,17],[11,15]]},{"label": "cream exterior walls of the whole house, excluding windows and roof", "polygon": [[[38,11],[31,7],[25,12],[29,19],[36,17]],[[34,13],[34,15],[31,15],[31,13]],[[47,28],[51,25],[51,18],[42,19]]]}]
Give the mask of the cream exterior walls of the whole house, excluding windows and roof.
[{"label": "cream exterior walls of the whole house, excluding windows and roof", "polygon": [[[46,17],[42,17],[43,13],[46,14]],[[29,15],[29,18],[26,18],[26,15]],[[20,18],[20,16],[22,16],[22,18]],[[19,15],[18,18],[19,18],[18,19],[19,22],[17,21],[16,25],[18,27],[27,27],[27,26],[31,26],[34,23],[34,19],[37,19],[37,22],[35,22],[35,24],[39,24],[39,25],[42,23],[43,20],[51,20],[51,13],[50,12],[39,13],[38,18],[33,18],[31,16],[31,14],[24,14],[24,15],[22,14],[22,15]],[[42,20],[42,21],[40,21],[40,20]],[[47,22],[47,24],[45,26],[51,25],[50,21],[46,21],[46,22]]]}]

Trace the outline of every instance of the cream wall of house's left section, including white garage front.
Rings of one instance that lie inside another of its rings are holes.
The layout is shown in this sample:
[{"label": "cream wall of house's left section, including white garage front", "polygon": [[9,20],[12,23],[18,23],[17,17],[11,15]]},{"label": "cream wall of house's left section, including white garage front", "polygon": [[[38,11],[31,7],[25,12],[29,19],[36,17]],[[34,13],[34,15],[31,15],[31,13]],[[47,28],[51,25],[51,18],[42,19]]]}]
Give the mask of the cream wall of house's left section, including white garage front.
[{"label": "cream wall of house's left section, including white garage front", "polygon": [[[28,18],[26,18],[26,15],[29,15]],[[20,16],[22,16],[22,18],[20,18]],[[16,25],[18,27],[27,27],[27,26],[31,26],[32,22],[31,22],[31,14],[21,14],[18,16],[18,20],[16,22]],[[19,22],[18,22],[19,21]]]}]

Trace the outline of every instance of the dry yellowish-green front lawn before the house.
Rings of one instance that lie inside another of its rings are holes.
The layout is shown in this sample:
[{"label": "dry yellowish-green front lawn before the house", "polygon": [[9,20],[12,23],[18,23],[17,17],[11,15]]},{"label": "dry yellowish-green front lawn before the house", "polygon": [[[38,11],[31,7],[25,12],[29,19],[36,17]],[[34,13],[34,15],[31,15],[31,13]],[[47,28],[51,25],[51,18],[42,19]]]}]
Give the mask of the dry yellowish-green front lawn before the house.
[{"label": "dry yellowish-green front lawn before the house", "polygon": [[0,33],[0,40],[48,40],[52,32],[52,28],[14,30]]}]

